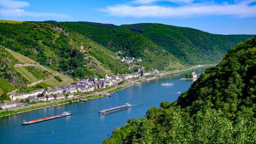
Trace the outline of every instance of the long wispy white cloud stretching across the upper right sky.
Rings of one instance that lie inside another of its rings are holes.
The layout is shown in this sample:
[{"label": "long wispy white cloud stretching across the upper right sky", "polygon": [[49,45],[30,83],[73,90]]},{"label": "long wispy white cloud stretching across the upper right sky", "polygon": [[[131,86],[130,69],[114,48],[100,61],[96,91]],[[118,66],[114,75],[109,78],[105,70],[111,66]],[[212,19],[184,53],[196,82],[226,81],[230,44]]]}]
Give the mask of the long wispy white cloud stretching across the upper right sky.
[{"label": "long wispy white cloud stretching across the upper right sky", "polygon": [[[150,1],[150,0],[148,0]],[[153,1],[153,0],[151,0]],[[101,9],[115,17],[160,17],[160,18],[191,18],[207,15],[233,15],[238,18],[256,17],[256,5],[248,4],[256,0],[243,1],[236,4],[196,3],[177,7],[161,5],[114,5]]]}]

